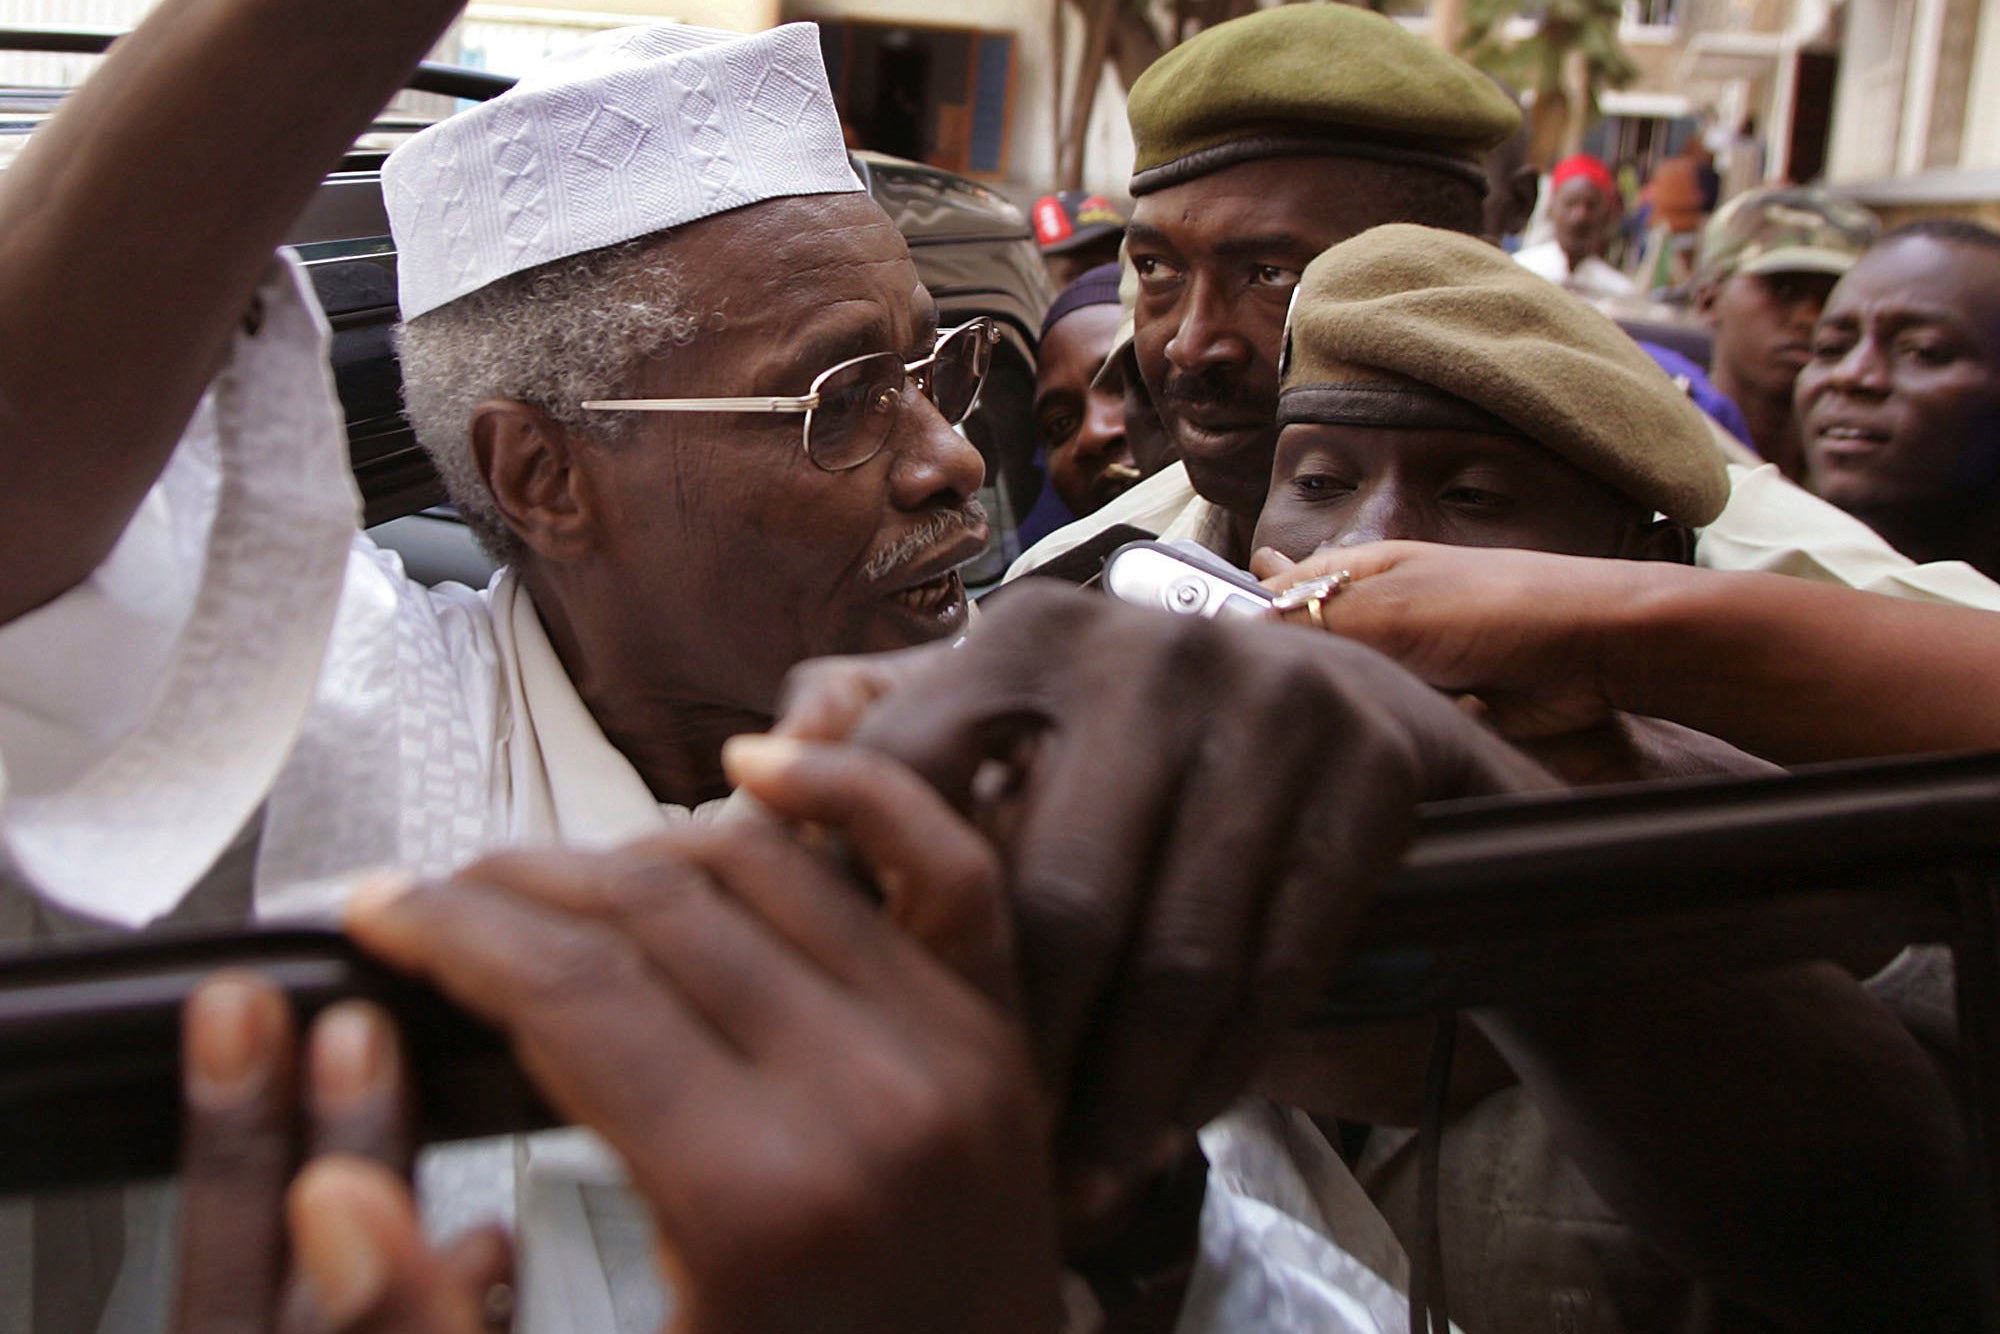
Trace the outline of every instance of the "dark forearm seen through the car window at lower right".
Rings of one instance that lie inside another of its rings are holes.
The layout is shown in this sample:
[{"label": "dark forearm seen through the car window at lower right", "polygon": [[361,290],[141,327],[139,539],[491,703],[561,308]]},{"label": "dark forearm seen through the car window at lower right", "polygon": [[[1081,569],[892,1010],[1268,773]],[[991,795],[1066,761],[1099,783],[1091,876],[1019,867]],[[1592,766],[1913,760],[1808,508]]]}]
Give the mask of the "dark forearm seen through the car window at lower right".
[{"label": "dark forearm seen through the car window at lower right", "polygon": [[1690,1274],[1798,1328],[1970,1328],[1950,1092],[1836,968],[1482,1026],[1592,1186]]}]

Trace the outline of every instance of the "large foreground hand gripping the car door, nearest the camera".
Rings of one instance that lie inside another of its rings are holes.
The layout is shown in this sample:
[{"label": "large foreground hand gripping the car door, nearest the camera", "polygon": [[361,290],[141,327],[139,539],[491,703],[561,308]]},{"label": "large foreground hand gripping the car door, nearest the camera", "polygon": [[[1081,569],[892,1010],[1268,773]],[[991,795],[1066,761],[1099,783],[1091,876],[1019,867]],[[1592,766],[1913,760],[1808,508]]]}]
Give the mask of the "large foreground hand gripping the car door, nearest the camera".
[{"label": "large foreground hand gripping the car door, nearest the camera", "polygon": [[1054,1330],[1048,1116],[992,852],[882,756],[778,750],[738,742],[732,776],[838,828],[886,914],[756,820],[488,858],[360,896],[348,926],[620,1152],[676,1330]]}]

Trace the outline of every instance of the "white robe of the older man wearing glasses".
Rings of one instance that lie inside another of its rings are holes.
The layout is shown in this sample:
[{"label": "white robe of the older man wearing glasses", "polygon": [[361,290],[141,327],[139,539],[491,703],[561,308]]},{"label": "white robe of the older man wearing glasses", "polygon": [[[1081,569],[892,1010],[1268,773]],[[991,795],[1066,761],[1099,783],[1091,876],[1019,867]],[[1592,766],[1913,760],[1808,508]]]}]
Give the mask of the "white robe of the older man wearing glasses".
[{"label": "white robe of the older man wearing glasses", "polygon": [[[430,590],[356,534],[328,330],[296,264],[262,304],[118,550],[0,626],[0,942],[240,920],[252,880],[258,916],[324,914],[374,866],[612,846],[724,806],[654,802],[512,574]],[[1268,1130],[1246,1114],[1204,1132],[1226,1166],[1182,1330],[1252,1312],[1402,1328],[1400,1298],[1298,1206]],[[572,1130],[436,1150],[420,1188],[434,1230],[514,1218],[522,1330],[654,1334],[668,1298],[618,1176]],[[86,1296],[116,1276],[100,1328],[164,1328],[166,1192],[124,1194],[76,1218],[0,1206],[0,1334],[32,1328],[38,1246]],[[122,1248],[80,1242],[90,1226]]]}]

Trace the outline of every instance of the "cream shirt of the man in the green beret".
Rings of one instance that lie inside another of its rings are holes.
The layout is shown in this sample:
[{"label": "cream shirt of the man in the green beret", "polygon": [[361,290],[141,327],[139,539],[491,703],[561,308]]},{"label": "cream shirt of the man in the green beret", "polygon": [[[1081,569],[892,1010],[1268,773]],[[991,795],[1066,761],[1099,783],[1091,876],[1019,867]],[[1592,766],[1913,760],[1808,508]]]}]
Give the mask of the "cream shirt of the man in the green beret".
[{"label": "cream shirt of the man in the green beret", "polygon": [[[1182,464],[1170,464],[1108,506],[1048,534],[1008,570],[1020,578],[1112,524],[1132,524],[1162,538],[1192,538],[1242,562],[1230,550],[1228,516],[1202,500]],[[1696,532],[1694,562],[1712,570],[1768,570],[1844,584],[1896,598],[1950,602],[2000,612],[2000,584],[1962,560],[1916,564],[1852,514],[1794,486],[1772,464],[1730,464],[1730,502]]]}]

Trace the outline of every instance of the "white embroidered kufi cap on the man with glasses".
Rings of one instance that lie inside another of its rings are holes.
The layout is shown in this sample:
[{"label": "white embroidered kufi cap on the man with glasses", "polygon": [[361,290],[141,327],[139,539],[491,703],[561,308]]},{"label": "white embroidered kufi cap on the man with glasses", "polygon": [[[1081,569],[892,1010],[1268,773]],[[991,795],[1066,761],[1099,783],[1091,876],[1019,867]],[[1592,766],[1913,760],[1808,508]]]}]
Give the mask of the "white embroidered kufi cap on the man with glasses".
[{"label": "white embroidered kufi cap on the man with glasses", "polygon": [[862,184],[818,28],[616,28],[390,154],[402,318],[524,268]]}]

